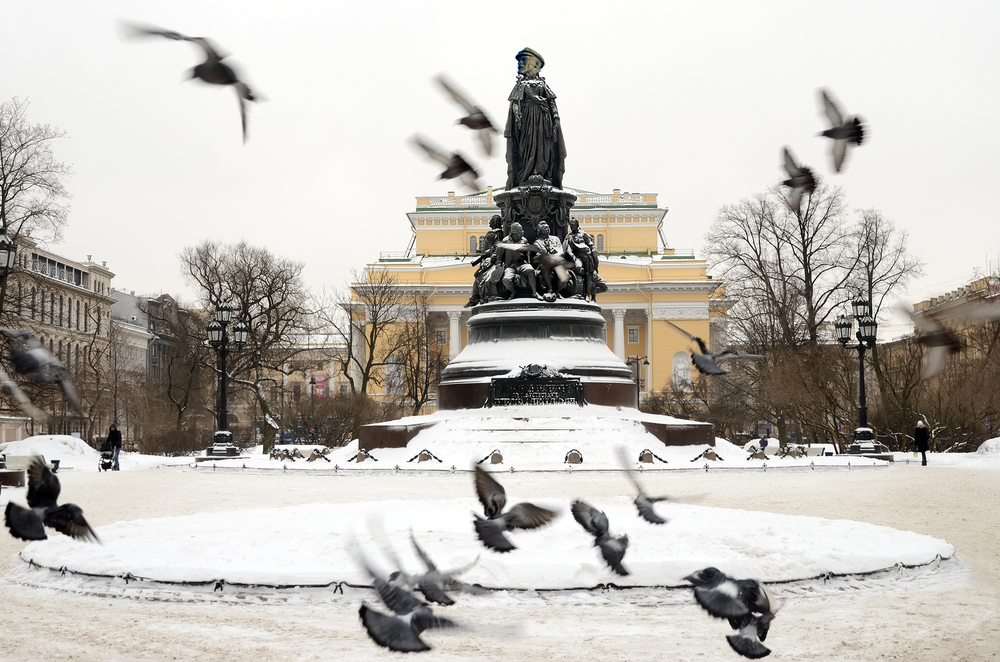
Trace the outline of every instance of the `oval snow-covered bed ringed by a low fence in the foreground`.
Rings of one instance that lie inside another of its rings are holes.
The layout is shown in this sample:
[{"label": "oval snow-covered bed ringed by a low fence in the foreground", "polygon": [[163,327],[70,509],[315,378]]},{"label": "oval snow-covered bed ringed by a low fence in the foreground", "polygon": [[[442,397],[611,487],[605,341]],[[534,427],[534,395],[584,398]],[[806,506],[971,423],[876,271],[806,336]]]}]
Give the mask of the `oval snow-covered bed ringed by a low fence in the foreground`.
[{"label": "oval snow-covered bed ringed by a low fence in the foreground", "polygon": [[[119,522],[97,529],[103,545],[58,536],[28,545],[23,555],[50,567],[112,576],[130,572],[161,581],[368,583],[350,549],[373,518],[409,559],[411,571],[420,564],[410,547],[410,528],[440,566],[459,567],[478,557],[478,565],[463,578],[498,588],[607,581],[678,585],[707,565],[740,577],[790,580],[924,564],[955,551],[930,536],[871,524],[685,504],[660,504],[658,511],[670,522],[656,526],[638,518],[630,498],[594,500],[607,513],[612,531],[629,535],[625,566],[632,574],[618,577],[604,567],[592,536],[568,512],[570,496],[538,501],[560,516],[543,529],[510,534],[519,549],[508,554],[479,543],[471,513],[481,508],[475,499],[464,498],[314,503]],[[391,570],[386,567],[386,574]]]}]

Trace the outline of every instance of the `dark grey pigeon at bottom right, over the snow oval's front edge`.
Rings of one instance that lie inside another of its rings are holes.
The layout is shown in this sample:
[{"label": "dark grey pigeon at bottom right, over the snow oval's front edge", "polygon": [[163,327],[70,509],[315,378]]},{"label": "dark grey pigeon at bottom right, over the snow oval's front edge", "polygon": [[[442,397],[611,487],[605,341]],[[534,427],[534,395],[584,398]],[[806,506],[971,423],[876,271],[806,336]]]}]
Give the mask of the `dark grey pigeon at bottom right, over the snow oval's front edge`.
[{"label": "dark grey pigeon at bottom right, over the snow oval's front edge", "polygon": [[695,600],[705,611],[728,619],[737,630],[737,634],[726,637],[734,651],[753,660],[771,653],[761,642],[767,638],[779,605],[764,584],[756,579],[733,579],[711,567],[684,579],[694,585]]}]

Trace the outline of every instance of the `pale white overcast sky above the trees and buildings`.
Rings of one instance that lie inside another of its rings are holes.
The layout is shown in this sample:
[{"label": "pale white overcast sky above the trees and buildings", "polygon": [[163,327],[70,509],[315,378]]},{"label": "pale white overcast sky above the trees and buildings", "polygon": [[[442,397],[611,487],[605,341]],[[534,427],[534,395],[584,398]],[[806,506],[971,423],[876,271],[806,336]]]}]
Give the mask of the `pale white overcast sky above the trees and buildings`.
[{"label": "pale white overcast sky above the trees and buildings", "polygon": [[[671,246],[703,254],[716,210],[779,181],[780,150],[909,233],[917,300],[997,270],[996,2],[16,2],[0,99],[67,133],[69,226],[51,248],[114,285],[190,301],[185,246],[245,239],[305,263],[310,288],[401,251],[418,195],[455,185],[406,143],[480,158],[431,83],[505,119],[528,46],[558,96],[564,184],[655,192]],[[231,89],[187,81],[193,44],[122,41],[119,20],[211,38],[266,101],[240,138]],[[817,89],[868,123],[835,174]],[[498,150],[502,155],[502,149]],[[503,186],[502,156],[482,162]]]}]

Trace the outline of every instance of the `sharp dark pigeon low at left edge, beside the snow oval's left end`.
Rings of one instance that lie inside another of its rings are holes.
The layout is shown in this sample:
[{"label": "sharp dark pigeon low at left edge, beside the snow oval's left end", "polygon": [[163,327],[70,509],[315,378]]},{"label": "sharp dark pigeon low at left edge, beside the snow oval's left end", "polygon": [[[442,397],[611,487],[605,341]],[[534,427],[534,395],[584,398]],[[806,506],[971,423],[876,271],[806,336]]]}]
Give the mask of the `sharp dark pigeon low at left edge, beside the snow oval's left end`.
[{"label": "sharp dark pigeon low at left edge, beside the snow oval's left end", "polygon": [[42,458],[34,457],[28,465],[28,508],[7,503],[5,523],[10,534],[21,540],[45,540],[45,527],[78,540],[101,542],[83,517],[83,510],[73,503],[56,504],[59,479]]}]

